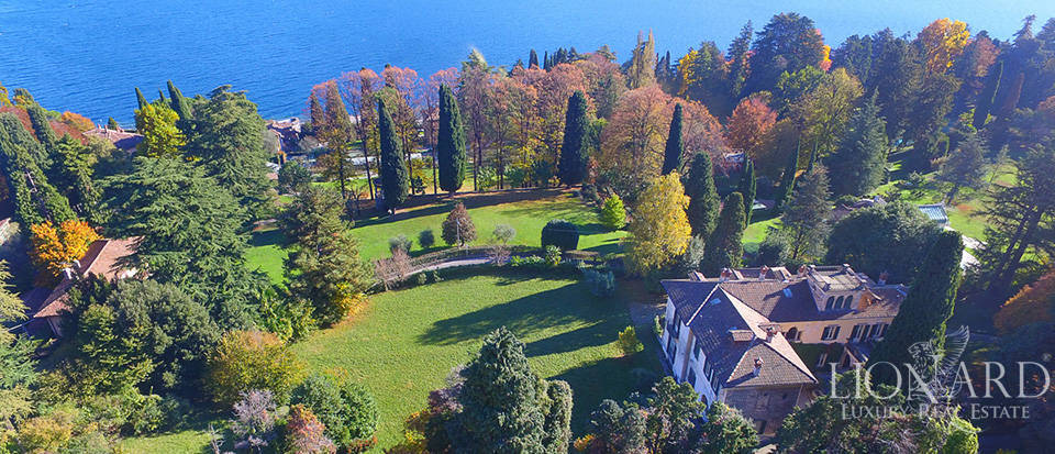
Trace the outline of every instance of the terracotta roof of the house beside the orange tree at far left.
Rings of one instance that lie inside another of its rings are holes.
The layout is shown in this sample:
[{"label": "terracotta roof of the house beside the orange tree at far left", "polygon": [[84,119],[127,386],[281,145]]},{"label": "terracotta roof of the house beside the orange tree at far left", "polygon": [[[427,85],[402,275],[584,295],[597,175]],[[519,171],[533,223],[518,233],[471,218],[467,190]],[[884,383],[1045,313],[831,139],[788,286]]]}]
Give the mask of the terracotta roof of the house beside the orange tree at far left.
[{"label": "terracotta roof of the house beside the orange tree at far left", "polygon": [[41,309],[36,311],[33,318],[58,317],[66,310],[69,301],[69,289],[77,278],[96,275],[107,279],[115,279],[134,275],[134,270],[122,269],[118,264],[121,257],[132,254],[134,245],[135,240],[133,239],[99,240],[91,243],[85,256],[75,264],[76,269],[68,268],[68,273],[63,276],[63,280],[41,302]]}]

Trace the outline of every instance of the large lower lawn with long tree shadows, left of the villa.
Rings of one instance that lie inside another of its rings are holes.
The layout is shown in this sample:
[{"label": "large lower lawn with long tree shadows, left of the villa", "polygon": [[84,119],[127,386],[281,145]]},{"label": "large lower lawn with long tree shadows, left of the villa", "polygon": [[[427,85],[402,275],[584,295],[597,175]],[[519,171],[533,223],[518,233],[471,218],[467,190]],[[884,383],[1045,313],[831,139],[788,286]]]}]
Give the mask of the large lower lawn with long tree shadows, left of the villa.
[{"label": "large lower lawn with long tree shadows, left of the villa", "polygon": [[401,439],[403,420],[425,406],[429,391],[444,386],[451,368],[504,325],[526,344],[538,375],[571,385],[573,429],[581,434],[602,399],[625,398],[640,376],[658,370],[646,326],[637,332],[652,343],[647,350],[619,357],[617,333],[629,324],[625,301],[593,298],[574,280],[484,275],[376,295],[356,320],[315,333],[293,351],[310,369],[343,369],[374,392],[378,439],[387,447]]}]

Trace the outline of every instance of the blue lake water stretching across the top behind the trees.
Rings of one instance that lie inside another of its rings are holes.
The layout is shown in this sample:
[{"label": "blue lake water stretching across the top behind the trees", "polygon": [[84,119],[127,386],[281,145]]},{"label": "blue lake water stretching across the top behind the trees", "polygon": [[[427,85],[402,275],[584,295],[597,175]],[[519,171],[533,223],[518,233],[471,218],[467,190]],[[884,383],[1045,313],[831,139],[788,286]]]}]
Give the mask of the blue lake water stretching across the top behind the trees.
[{"label": "blue lake water stretching across the top behind the trees", "polygon": [[360,67],[388,63],[427,77],[471,47],[511,65],[532,47],[541,58],[558,46],[602,44],[624,60],[648,29],[659,52],[680,55],[703,40],[725,48],[745,21],[758,30],[781,11],[812,18],[837,46],[882,27],[914,34],[945,16],[1008,38],[1028,14],[1039,30],[1055,2],[0,0],[0,82],[96,122],[131,121],[135,86],[156,98],[168,79],[188,95],[231,84],[279,118],[300,114],[312,85]]}]

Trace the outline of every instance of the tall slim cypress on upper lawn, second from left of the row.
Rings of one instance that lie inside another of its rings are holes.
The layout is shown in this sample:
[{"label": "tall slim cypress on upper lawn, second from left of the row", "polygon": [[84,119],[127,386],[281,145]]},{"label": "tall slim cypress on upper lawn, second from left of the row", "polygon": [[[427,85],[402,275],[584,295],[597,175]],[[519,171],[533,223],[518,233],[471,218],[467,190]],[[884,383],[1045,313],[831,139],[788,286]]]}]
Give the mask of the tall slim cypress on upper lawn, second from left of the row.
[{"label": "tall slim cypress on upper lawn, second from left of the row", "polygon": [[454,91],[440,86],[440,131],[436,136],[440,189],[454,192],[465,182],[465,126]]}]

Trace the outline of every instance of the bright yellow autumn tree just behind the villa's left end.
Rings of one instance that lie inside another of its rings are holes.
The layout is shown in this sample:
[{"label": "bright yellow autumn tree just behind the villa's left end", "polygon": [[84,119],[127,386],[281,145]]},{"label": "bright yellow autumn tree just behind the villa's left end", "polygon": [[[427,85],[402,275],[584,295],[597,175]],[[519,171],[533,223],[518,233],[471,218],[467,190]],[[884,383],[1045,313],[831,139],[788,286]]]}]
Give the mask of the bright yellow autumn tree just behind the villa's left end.
[{"label": "bright yellow autumn tree just behind the villa's left end", "polygon": [[692,235],[685,210],[689,198],[681,186],[681,176],[671,171],[654,177],[637,199],[637,209],[628,230],[630,264],[644,274],[670,264],[685,253]]}]

